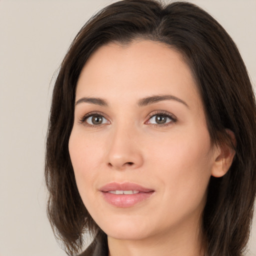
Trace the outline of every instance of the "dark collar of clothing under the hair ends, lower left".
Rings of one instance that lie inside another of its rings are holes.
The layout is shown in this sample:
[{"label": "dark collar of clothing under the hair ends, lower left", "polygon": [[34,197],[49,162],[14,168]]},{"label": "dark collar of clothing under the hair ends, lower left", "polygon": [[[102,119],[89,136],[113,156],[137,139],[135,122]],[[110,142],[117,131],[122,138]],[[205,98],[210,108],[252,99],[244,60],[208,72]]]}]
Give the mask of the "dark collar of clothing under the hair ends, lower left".
[{"label": "dark collar of clothing under the hair ends, lower left", "polygon": [[108,256],[107,236],[98,234],[79,256]]}]

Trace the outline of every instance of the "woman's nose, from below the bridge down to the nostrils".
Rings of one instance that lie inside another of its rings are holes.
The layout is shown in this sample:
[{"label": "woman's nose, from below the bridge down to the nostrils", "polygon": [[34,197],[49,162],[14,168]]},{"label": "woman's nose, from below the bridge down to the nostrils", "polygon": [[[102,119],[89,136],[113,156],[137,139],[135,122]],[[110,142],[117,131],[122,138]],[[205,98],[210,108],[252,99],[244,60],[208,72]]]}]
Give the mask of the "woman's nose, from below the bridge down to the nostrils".
[{"label": "woman's nose, from below the bridge down to the nostrils", "polygon": [[135,169],[143,164],[139,134],[134,128],[116,128],[112,130],[109,140],[106,162],[110,168]]}]

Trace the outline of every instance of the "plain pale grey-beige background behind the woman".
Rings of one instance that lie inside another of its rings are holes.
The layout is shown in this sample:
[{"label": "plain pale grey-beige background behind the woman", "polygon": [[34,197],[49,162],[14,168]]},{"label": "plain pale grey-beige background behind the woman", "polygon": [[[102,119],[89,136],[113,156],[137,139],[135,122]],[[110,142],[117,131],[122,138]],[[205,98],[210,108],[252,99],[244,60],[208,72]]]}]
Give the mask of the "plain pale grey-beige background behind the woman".
[{"label": "plain pale grey-beige background behind the woman", "polygon": [[[256,0],[191,1],[229,32],[255,86]],[[0,0],[0,256],[66,255],[45,213],[51,79],[79,28],[110,2]],[[256,227],[249,248],[256,255]]]}]

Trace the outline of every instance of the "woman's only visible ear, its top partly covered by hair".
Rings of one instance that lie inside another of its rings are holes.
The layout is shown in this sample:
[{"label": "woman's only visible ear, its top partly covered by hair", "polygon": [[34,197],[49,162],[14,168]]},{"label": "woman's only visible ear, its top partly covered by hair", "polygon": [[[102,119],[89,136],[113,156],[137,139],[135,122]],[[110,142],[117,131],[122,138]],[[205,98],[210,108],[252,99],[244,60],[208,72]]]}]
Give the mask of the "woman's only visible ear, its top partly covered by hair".
[{"label": "woman's only visible ear, its top partly covered by hair", "polygon": [[[228,133],[232,144],[236,146],[234,133],[229,129],[226,129],[225,131]],[[235,150],[231,145],[226,143],[216,145],[213,155],[214,162],[211,169],[211,175],[214,177],[221,177],[226,174],[232,164],[234,155]]]}]

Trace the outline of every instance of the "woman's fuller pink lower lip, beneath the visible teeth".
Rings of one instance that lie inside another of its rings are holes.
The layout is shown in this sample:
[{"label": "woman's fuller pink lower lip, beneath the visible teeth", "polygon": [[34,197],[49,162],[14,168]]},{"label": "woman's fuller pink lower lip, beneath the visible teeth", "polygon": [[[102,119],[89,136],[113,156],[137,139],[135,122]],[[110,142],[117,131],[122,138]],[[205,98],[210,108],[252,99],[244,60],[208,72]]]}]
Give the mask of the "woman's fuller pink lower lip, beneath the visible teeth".
[{"label": "woman's fuller pink lower lip, beneath the visible teeth", "polygon": [[154,191],[139,192],[136,194],[113,194],[102,192],[104,199],[117,207],[127,208],[149,198]]}]

